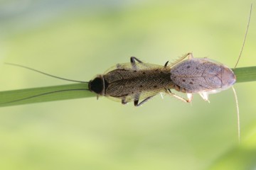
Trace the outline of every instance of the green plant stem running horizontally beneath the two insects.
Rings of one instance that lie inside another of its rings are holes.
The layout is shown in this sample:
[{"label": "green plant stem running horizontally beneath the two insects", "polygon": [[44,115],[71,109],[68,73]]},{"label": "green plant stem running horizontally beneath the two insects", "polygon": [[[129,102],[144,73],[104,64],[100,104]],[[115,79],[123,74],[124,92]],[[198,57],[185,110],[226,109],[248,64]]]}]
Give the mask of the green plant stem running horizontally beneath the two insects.
[{"label": "green plant stem running horizontally beneath the two insects", "polygon": [[[242,67],[233,69],[233,71],[237,77],[237,83],[256,81],[256,67]],[[0,91],[0,107],[92,96],[96,96],[96,94],[89,91],[87,83]]]}]

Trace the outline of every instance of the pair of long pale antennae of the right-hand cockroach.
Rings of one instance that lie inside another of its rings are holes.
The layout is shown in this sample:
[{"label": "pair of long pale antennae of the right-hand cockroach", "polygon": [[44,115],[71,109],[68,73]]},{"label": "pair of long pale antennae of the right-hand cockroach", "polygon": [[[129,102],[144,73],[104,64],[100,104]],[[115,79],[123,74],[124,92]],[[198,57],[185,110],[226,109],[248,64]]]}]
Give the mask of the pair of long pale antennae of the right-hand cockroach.
[{"label": "pair of long pale antennae of the right-hand cockroach", "polygon": [[[235,63],[235,67],[234,69],[238,66],[238,62],[240,60],[240,57],[242,55],[242,50],[245,46],[245,40],[246,40],[246,37],[247,37],[247,33],[248,33],[248,29],[249,29],[249,26],[250,26],[250,17],[252,15],[252,4],[250,6],[250,14],[249,14],[249,18],[248,18],[248,23],[247,23],[247,27],[246,27],[246,30],[245,30],[245,38],[244,40],[242,41],[242,47],[241,47],[241,50],[240,50],[240,54],[238,56],[238,60],[237,62]],[[236,94],[236,91],[235,91],[235,88],[234,86],[231,86],[232,89],[233,89],[233,94],[235,96],[235,105],[236,105],[236,109],[237,109],[237,117],[238,117],[238,143],[240,143],[240,114],[239,114],[239,106],[238,106],[238,95]]]}]

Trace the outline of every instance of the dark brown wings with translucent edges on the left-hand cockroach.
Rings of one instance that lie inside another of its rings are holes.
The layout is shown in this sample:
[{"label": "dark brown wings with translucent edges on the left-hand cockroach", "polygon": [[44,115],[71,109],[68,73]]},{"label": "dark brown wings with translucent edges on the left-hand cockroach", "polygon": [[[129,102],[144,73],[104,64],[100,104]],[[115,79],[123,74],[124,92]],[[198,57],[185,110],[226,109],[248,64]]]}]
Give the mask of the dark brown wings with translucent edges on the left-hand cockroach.
[{"label": "dark brown wings with translucent edges on the left-hand cockroach", "polygon": [[127,103],[142,101],[155,96],[171,84],[170,69],[156,64],[122,64],[104,75],[107,82],[105,96],[114,98],[114,101]]}]

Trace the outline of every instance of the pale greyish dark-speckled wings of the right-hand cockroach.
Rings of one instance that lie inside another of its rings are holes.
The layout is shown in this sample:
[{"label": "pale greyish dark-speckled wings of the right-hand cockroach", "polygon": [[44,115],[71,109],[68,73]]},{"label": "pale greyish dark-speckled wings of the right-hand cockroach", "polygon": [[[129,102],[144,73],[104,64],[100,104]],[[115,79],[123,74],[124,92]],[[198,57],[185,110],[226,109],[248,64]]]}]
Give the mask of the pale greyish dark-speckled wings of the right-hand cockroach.
[{"label": "pale greyish dark-speckled wings of the right-hand cockroach", "polygon": [[220,89],[220,64],[205,58],[185,60],[171,69],[171,80],[187,93],[201,93]]}]

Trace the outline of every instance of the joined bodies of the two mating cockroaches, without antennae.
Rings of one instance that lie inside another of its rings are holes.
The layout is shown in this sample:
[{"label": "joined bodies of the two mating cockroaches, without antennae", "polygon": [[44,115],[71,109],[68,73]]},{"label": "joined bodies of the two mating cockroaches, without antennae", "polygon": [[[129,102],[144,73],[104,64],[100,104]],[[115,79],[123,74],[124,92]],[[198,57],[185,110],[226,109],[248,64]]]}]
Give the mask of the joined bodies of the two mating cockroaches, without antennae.
[{"label": "joined bodies of the two mating cockroaches, without antennae", "polygon": [[[186,57],[188,60],[184,60]],[[208,94],[228,89],[234,83],[235,74],[228,67],[206,58],[193,58],[188,53],[174,64],[166,62],[164,66],[131,57],[130,63],[117,64],[112,71],[92,79],[89,89],[101,96],[119,98],[123,104],[134,101],[134,106],[140,106],[160,92],[185,102],[191,102],[192,94],[196,93],[208,101]],[[186,93],[188,99],[171,89]]]}]

